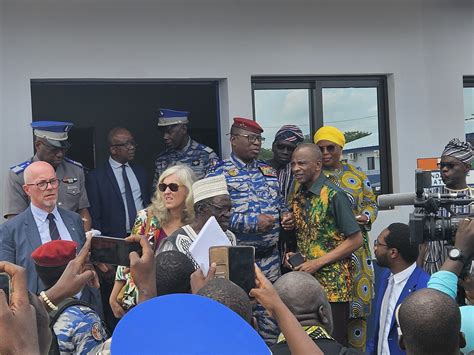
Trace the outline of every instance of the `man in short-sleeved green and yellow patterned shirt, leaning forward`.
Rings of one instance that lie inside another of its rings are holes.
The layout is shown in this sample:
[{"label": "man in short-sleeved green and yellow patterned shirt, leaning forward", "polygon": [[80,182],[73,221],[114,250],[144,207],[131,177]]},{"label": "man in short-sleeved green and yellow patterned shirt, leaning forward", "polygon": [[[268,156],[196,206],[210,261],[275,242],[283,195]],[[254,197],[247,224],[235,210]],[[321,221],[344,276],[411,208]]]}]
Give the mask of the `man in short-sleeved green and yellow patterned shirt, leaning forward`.
[{"label": "man in short-sleeved green and yellow patterned shirt, leaning forward", "polygon": [[291,169],[300,185],[291,200],[298,250],[306,258],[294,270],[314,275],[324,287],[334,318],[333,337],[347,345],[350,256],[362,245],[362,233],[347,195],[321,174],[322,157],[317,145],[300,144],[293,153]]}]

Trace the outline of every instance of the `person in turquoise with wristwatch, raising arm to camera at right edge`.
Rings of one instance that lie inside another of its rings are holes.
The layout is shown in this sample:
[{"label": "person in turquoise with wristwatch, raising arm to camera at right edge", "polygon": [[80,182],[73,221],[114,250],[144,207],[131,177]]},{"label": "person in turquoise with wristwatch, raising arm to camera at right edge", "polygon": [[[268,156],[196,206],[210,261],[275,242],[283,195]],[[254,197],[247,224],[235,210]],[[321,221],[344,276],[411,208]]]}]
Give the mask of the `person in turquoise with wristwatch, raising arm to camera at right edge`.
[{"label": "person in turquoise with wristwatch, raising arm to camera at right edge", "polygon": [[[441,270],[431,276],[428,282],[428,288],[444,292],[455,299],[458,276],[466,265],[471,265],[470,272],[459,281],[464,283],[464,286],[466,286],[467,283],[470,283],[471,285],[473,283],[473,257],[474,219],[465,218],[459,224],[454,248],[450,250],[449,258],[443,263]],[[474,306],[461,306],[459,307],[459,310],[461,312],[461,331],[466,337],[466,346],[461,350],[467,354],[474,350]],[[443,312],[443,310],[437,311]]]}]

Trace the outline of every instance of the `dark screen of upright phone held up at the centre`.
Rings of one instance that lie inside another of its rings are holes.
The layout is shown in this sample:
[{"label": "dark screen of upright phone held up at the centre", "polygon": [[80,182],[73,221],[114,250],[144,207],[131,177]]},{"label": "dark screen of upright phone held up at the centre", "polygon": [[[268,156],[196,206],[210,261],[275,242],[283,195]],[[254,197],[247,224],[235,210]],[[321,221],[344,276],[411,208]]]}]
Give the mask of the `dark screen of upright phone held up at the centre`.
[{"label": "dark screen of upright phone held up at the centre", "polygon": [[255,249],[229,247],[229,280],[249,293],[255,287]]}]

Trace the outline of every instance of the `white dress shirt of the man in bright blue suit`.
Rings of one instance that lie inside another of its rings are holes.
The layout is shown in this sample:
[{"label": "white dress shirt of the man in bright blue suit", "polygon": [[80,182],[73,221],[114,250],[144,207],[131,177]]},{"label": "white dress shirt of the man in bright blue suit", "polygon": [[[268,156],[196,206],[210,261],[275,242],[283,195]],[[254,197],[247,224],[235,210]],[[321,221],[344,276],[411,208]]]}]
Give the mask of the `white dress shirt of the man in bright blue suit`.
[{"label": "white dress shirt of the man in bright blue suit", "polygon": [[377,344],[378,355],[389,355],[390,348],[388,346],[388,334],[390,332],[390,325],[394,316],[395,305],[397,304],[403,288],[405,287],[410,275],[415,270],[416,263],[413,263],[405,270],[396,274],[390,274],[388,285],[385,290],[382,306],[380,308],[379,319],[379,341]]}]

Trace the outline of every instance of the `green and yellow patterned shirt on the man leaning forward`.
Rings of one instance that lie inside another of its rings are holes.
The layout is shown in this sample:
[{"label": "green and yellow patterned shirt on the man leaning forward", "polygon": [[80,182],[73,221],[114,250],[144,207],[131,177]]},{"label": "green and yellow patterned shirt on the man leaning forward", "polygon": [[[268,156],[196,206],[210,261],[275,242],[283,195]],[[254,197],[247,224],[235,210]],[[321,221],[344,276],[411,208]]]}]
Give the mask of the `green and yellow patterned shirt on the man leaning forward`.
[{"label": "green and yellow patterned shirt on the man leaning forward", "polygon": [[[308,260],[327,254],[340,245],[345,236],[360,231],[346,194],[323,174],[309,190],[300,186],[291,205],[298,249]],[[314,276],[324,287],[329,302],[352,299],[350,258],[326,265]]]}]

